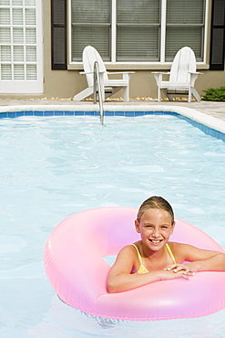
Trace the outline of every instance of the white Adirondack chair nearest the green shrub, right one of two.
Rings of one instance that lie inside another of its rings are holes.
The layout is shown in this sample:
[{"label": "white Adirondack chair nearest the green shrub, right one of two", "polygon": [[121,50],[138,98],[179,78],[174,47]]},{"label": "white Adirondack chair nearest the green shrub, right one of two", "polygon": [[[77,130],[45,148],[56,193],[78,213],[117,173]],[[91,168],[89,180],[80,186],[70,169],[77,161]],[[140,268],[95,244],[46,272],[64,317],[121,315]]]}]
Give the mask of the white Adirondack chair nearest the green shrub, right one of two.
[{"label": "white Adirondack chair nearest the green shrub, right one of two", "polygon": [[[158,85],[158,100],[161,100],[161,91],[173,100],[174,94],[188,94],[189,102],[191,95],[200,100],[199,93],[194,88],[195,80],[201,74],[196,71],[196,58],[193,50],[189,47],[179,49],[176,54],[170,72],[152,72]],[[169,74],[169,81],[162,80],[163,74]]]}]

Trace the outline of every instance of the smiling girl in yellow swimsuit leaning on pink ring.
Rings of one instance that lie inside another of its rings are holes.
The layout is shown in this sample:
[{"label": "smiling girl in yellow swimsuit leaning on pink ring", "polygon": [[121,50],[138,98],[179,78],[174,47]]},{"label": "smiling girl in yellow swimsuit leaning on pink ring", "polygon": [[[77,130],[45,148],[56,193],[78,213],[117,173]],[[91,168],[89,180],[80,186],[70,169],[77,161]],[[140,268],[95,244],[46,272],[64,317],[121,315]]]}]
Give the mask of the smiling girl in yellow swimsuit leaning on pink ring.
[{"label": "smiling girl in yellow swimsuit leaning on pink ring", "polygon": [[[107,276],[108,292],[135,289],[157,280],[189,280],[197,271],[225,270],[225,254],[169,242],[175,227],[172,207],[152,196],[138,210],[138,242],[122,248]],[[183,264],[183,261],[189,263]]]}]

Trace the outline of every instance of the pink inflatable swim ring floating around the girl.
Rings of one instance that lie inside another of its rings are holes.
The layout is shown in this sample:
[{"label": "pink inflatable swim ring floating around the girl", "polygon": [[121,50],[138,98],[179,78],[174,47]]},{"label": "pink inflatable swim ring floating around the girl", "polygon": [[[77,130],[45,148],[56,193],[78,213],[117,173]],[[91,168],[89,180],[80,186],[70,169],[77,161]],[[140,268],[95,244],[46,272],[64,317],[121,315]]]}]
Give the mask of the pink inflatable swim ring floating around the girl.
[{"label": "pink inflatable swim ring floating around the girl", "polygon": [[[198,272],[190,280],[163,280],[119,293],[107,293],[110,266],[105,257],[139,239],[138,209],[103,207],[62,221],[45,248],[46,275],[62,301],[106,318],[155,321],[205,316],[225,308],[225,272]],[[224,252],[207,234],[176,219],[171,241]]]}]

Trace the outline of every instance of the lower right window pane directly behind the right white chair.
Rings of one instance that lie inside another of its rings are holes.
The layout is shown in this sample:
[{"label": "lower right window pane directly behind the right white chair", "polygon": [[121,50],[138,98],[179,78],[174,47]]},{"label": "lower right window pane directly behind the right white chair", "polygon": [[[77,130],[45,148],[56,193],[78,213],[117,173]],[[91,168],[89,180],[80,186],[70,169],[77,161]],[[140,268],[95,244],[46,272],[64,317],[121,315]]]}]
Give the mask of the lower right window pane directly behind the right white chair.
[{"label": "lower right window pane directly behind the right white chair", "polygon": [[180,48],[188,46],[193,49],[196,59],[202,60],[201,27],[168,27],[166,39],[166,60],[171,61]]}]

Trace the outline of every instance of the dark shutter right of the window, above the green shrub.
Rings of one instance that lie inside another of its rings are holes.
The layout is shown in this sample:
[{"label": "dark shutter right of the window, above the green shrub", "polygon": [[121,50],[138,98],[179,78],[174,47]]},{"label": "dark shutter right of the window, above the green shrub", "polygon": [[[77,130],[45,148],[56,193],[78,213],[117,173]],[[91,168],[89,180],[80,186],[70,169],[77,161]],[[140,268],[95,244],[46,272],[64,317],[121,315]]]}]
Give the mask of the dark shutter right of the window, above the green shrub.
[{"label": "dark shutter right of the window, above the green shrub", "polygon": [[213,0],[211,8],[210,70],[224,70],[225,1]]}]

